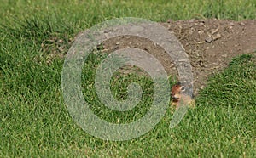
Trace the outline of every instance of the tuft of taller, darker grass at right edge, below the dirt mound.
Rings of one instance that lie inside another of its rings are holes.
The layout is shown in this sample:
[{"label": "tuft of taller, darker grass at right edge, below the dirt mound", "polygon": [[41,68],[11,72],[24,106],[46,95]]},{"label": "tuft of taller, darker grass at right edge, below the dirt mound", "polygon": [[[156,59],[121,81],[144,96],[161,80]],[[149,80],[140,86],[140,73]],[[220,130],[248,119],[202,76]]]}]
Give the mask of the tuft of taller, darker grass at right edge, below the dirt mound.
[{"label": "tuft of taller, darker grass at right edge, below the dirt mound", "polygon": [[[239,65],[239,66],[238,66]],[[215,105],[227,105],[227,99],[233,106],[256,103],[256,63],[254,54],[243,54],[230,62],[230,67],[223,73],[210,79],[209,86],[201,92],[201,98],[208,98]],[[211,96],[208,96],[211,93]]]}]

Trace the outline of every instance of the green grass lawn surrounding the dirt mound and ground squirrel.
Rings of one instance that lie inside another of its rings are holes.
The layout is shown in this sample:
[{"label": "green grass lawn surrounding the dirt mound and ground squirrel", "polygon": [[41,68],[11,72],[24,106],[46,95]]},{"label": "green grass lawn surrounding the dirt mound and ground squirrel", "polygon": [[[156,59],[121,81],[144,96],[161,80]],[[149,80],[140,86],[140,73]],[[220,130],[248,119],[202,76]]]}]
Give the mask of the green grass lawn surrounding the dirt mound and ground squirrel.
[{"label": "green grass lawn surrounding the dirt mound and ground squirrel", "polygon": [[[255,1],[7,1],[0,6],[0,157],[254,157],[256,155],[255,54],[233,59],[212,76],[183,121],[169,128],[172,112],[154,130],[125,142],[105,141],[85,133],[69,116],[61,93],[64,52],[73,37],[113,17],[149,20],[218,18],[255,19]],[[94,2],[94,3],[92,3]],[[180,9],[183,7],[183,9]],[[143,87],[136,110],[113,113],[97,109],[92,55],[84,65],[85,99],[98,116],[116,122],[137,120],[148,109],[152,81],[144,76],[113,78],[113,93],[125,99],[130,82]],[[88,71],[87,71],[88,70]],[[172,81],[171,81],[172,83]],[[121,88],[121,90],[119,90]],[[101,105],[100,107],[103,107]],[[135,117],[133,117],[135,116]]]}]

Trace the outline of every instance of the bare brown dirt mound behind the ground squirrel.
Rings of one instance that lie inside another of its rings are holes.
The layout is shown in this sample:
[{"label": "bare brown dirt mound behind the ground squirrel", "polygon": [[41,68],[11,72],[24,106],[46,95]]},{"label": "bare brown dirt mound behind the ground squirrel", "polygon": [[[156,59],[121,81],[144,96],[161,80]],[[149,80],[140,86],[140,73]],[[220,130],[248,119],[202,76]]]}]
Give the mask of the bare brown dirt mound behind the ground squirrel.
[{"label": "bare brown dirt mound behind the ground squirrel", "polygon": [[[175,34],[189,55],[195,94],[206,85],[207,77],[226,67],[230,59],[256,52],[256,20],[168,20],[161,25]],[[151,41],[140,37],[116,37],[103,43],[103,48],[111,51],[129,47],[154,54],[168,74],[177,74],[172,59]]]}]

